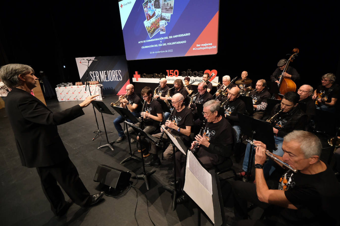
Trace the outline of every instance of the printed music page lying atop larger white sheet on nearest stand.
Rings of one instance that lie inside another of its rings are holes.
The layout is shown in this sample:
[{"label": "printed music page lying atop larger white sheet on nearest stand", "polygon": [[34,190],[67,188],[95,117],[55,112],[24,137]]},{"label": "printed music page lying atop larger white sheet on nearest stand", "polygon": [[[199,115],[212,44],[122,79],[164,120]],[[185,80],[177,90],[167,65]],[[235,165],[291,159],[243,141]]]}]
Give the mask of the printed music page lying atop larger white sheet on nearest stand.
[{"label": "printed music page lying atop larger white sheet on nearest stand", "polygon": [[191,151],[188,154],[187,167],[201,184],[212,194],[211,174],[205,170]]}]

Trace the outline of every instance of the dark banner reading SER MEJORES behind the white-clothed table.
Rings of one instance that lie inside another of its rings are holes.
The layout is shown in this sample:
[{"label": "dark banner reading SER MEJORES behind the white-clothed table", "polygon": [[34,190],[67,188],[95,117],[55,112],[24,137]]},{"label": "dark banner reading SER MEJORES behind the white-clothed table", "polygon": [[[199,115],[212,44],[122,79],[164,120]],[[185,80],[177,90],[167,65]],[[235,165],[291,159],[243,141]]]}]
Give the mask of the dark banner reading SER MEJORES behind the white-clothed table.
[{"label": "dark banner reading SER MEJORES behind the white-clothed table", "polygon": [[77,62],[80,81],[83,83],[87,76],[87,60],[89,62],[87,81],[99,81],[103,85],[103,94],[126,94],[126,85],[130,84],[128,64],[125,56],[107,57],[78,57]]}]

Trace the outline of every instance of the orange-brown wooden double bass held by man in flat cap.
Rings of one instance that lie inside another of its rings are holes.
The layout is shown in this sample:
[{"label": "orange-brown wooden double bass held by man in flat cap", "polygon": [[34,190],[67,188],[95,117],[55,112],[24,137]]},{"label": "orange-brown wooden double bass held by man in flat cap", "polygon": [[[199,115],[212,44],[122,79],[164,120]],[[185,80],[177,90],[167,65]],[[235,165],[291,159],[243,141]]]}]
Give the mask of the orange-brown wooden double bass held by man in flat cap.
[{"label": "orange-brown wooden double bass held by man in flat cap", "polygon": [[[298,48],[294,48],[293,49],[293,54],[289,57],[289,59],[287,60],[286,66],[283,69],[279,80],[278,80],[278,88],[279,88],[279,93],[282,95],[285,95],[285,93],[289,92],[289,91],[293,91],[295,92],[296,90],[296,84],[295,82],[293,82],[293,80],[291,80],[288,77],[284,77],[283,73],[285,73],[287,71],[288,65],[290,62],[293,62],[294,58],[297,56],[297,54],[299,53],[299,49]],[[274,98],[275,94],[273,95],[272,98]],[[279,95],[276,94],[275,99],[277,100],[281,100],[281,98],[279,97]]]}]

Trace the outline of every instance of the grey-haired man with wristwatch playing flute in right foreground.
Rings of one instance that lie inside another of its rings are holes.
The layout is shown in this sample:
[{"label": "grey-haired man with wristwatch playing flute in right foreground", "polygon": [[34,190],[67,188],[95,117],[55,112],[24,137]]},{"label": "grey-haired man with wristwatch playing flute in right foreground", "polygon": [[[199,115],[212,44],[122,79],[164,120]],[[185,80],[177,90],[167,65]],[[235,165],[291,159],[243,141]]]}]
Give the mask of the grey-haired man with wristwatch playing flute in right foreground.
[{"label": "grey-haired man with wristwatch playing flute in right foreground", "polygon": [[[274,189],[268,188],[263,175],[265,149],[256,148],[256,184],[232,185],[235,220],[241,220],[233,225],[339,225],[340,186],[333,170],[320,160],[319,138],[303,130],[284,137],[283,157],[276,157],[298,171],[287,170]],[[248,220],[247,202],[264,209],[265,220]]]}]

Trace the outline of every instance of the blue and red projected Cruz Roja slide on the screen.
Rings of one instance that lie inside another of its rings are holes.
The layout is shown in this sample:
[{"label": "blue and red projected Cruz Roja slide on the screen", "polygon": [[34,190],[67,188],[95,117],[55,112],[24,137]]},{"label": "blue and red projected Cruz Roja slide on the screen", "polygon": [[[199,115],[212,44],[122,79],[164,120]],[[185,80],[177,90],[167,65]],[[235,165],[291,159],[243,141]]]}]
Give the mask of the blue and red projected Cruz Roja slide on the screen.
[{"label": "blue and red projected Cruz Roja slide on the screen", "polygon": [[127,60],[217,54],[219,0],[118,4]]}]

